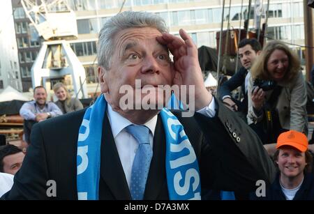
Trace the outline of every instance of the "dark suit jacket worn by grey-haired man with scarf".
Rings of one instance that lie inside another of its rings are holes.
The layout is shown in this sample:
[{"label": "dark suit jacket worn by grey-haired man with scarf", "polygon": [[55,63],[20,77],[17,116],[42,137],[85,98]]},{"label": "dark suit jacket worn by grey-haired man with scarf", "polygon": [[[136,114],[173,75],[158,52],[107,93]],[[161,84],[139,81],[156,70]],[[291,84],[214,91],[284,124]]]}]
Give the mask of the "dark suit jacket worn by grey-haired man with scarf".
[{"label": "dark suit jacket worn by grey-haired man with scarf", "polygon": [[[276,169],[255,132],[224,105],[217,116],[182,118],[200,166],[202,190],[253,191],[255,181],[273,181]],[[86,109],[40,122],[12,190],[5,199],[49,199],[47,181],[57,183],[57,198],[77,199],[77,136]],[[219,110],[219,111],[218,111]],[[103,121],[100,149],[99,199],[131,199],[109,120]],[[144,199],[168,199],[165,171],[165,132],[158,116]]]}]

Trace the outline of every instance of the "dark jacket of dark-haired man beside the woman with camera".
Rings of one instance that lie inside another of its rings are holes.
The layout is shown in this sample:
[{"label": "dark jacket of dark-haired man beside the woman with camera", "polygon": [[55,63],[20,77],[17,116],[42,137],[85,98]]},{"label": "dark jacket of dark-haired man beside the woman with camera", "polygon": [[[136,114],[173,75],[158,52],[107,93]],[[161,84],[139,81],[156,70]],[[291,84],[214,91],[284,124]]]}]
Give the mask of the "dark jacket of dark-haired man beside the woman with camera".
[{"label": "dark jacket of dark-haired man beside the woman with camera", "polygon": [[[244,95],[244,99],[242,100],[242,102],[236,100],[236,104],[239,107],[239,111],[246,114],[248,113],[248,93],[245,92],[245,81],[247,73],[248,70],[246,70],[246,68],[244,67],[241,67],[238,72],[236,72],[230,79],[224,82],[218,89],[218,95],[220,99],[223,99],[225,95],[230,95],[230,97],[232,98],[231,91],[241,86],[241,93]],[[232,98],[232,100],[235,99]]]}]

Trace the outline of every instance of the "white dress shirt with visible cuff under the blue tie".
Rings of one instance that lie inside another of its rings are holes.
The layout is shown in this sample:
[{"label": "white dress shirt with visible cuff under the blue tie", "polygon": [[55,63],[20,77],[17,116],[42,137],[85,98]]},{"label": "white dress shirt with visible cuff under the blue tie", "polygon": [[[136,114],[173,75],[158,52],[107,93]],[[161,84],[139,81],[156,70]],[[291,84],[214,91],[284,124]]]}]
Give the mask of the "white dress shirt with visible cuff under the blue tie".
[{"label": "white dress shirt with visible cuff under the blue tie", "polygon": [[[215,107],[216,104],[213,98],[207,107],[204,107],[197,112],[205,116],[214,117],[216,114]],[[126,176],[126,181],[128,182],[128,188],[130,188],[132,165],[135,158],[135,153],[137,151],[138,143],[132,135],[126,132],[125,128],[133,123],[118,114],[117,112],[114,112],[109,104],[107,105],[107,116],[110,122],[114,142],[116,143],[117,151],[119,153],[121,165],[124,168],[124,174]],[[158,116],[156,115],[150,121],[147,121],[147,123],[143,124],[146,125],[147,128],[149,128],[150,130],[149,143],[151,144],[151,148],[154,148],[153,139],[157,124],[157,118]]]}]

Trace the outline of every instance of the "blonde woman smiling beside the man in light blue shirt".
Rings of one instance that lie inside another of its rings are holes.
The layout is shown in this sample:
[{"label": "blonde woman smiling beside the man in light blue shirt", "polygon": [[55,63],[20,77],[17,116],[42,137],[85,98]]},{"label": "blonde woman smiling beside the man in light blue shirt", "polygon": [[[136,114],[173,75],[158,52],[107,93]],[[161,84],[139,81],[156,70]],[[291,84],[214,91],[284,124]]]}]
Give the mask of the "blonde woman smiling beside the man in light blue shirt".
[{"label": "blonde woman smiling beside the man in light blue shirt", "polygon": [[58,98],[57,102],[54,103],[61,109],[63,114],[83,109],[82,102],[77,98],[71,98],[66,90],[66,86],[61,82],[54,84],[54,94]]}]

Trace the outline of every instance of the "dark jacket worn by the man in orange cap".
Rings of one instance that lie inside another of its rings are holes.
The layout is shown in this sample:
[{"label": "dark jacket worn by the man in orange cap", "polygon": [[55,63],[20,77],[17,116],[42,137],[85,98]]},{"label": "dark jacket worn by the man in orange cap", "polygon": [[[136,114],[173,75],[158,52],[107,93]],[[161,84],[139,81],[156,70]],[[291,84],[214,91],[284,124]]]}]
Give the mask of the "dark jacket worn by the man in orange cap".
[{"label": "dark jacket worn by the man in orange cap", "polygon": [[[279,183],[279,174],[276,176],[274,183],[266,189],[265,197],[256,197],[255,194],[251,195],[253,200],[285,200],[285,194],[281,190],[281,184]],[[305,174],[303,183],[300,189],[294,196],[293,200],[314,200],[314,177],[313,174]]]}]

